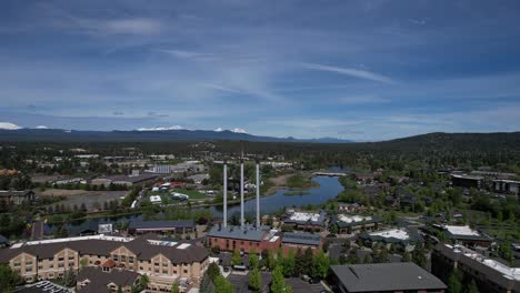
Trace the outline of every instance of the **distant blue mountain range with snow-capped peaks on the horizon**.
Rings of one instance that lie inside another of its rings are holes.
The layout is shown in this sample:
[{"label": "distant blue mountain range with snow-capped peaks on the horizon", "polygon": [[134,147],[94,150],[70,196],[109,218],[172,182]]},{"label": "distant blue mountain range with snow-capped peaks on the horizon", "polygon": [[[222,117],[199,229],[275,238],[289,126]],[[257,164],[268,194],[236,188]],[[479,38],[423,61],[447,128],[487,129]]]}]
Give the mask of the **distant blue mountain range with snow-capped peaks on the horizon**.
[{"label": "distant blue mountain range with snow-capped peaks on the horizon", "polygon": [[216,141],[243,140],[258,142],[314,142],[314,143],[350,143],[353,141],[333,138],[294,139],[259,137],[246,133],[241,129],[230,130],[186,130],[177,128],[140,129],[130,131],[84,131],[47,128],[9,128],[0,129],[0,141],[52,141],[52,142],[169,142],[169,141]]}]

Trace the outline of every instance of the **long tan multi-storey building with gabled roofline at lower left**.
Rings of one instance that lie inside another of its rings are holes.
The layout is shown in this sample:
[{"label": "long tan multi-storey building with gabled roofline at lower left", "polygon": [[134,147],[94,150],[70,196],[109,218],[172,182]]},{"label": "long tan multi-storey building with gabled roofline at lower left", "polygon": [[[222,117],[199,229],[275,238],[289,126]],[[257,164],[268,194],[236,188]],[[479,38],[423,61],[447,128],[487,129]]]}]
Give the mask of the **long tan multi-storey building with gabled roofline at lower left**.
[{"label": "long tan multi-storey building with gabled roofline at lower left", "polygon": [[108,265],[107,261],[148,275],[150,290],[171,290],[181,280],[198,284],[209,265],[209,252],[196,242],[103,234],[31,241],[0,250],[0,263],[9,264],[26,282],[62,277],[69,270]]}]

